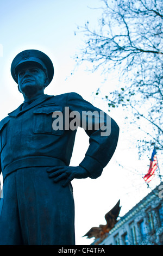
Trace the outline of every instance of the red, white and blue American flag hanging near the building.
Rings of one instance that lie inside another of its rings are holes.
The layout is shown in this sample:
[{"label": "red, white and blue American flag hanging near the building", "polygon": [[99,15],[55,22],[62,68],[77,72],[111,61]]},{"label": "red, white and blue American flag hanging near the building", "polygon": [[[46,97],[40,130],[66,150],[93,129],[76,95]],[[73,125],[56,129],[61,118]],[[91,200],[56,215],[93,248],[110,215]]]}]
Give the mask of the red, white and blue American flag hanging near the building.
[{"label": "red, white and blue American flag hanging near the building", "polygon": [[151,157],[151,161],[150,161],[149,170],[148,170],[147,174],[143,177],[143,179],[146,182],[149,182],[152,180],[152,178],[154,177],[154,172],[155,172],[156,168],[158,168],[158,160],[156,157],[156,150],[154,148],[152,157]]}]

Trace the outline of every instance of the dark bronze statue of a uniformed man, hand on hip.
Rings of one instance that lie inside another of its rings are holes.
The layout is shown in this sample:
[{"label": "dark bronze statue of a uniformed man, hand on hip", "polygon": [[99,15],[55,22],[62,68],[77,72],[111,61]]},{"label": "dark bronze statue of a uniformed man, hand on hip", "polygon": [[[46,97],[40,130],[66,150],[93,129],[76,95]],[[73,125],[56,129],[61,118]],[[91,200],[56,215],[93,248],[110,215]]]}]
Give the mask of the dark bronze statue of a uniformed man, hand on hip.
[{"label": "dark bronze statue of a uniformed man, hand on hip", "polygon": [[[71,181],[101,175],[116,149],[118,125],[77,93],[44,94],[54,68],[41,51],[17,54],[11,75],[24,102],[0,122],[0,245],[74,245]],[[71,167],[77,126],[90,145]]]}]

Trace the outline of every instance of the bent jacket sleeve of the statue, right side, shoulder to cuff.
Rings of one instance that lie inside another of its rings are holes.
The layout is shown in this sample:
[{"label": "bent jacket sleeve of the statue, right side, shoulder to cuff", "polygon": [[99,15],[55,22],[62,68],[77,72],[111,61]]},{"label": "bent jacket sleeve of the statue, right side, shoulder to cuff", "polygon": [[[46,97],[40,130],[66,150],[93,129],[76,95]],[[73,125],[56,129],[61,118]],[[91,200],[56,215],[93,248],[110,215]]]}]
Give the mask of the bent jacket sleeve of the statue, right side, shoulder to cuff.
[{"label": "bent jacket sleeve of the statue, right side, shoulder to cuff", "polygon": [[78,124],[90,137],[89,148],[79,166],[87,170],[90,178],[96,179],[115,152],[119,127],[108,114],[85,101],[77,93],[68,94],[67,106],[70,107],[70,113],[79,113]]}]

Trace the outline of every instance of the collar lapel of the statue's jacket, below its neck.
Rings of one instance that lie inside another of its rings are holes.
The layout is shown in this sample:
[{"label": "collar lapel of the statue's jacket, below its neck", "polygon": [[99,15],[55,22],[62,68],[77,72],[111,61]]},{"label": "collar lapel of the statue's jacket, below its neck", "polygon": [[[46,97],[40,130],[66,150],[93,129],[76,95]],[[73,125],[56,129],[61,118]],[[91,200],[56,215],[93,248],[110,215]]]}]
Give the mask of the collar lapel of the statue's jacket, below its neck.
[{"label": "collar lapel of the statue's jacket, below its neck", "polygon": [[43,96],[39,97],[39,99],[33,101],[32,103],[29,104],[29,106],[27,106],[26,108],[22,109],[23,103],[16,108],[14,111],[12,111],[11,113],[9,113],[8,115],[10,115],[10,117],[17,117],[17,115],[22,114],[26,111],[28,111],[29,109],[39,105],[40,103],[50,99],[51,97],[54,97],[53,95],[47,95],[44,94]]}]

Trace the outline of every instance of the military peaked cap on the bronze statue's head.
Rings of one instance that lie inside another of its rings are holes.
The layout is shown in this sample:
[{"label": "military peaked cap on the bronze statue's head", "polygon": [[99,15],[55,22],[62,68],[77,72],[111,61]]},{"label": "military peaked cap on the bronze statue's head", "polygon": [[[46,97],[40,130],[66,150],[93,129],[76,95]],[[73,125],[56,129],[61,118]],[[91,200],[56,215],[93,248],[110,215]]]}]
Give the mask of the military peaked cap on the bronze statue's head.
[{"label": "military peaked cap on the bronze statue's head", "polygon": [[43,52],[39,50],[25,50],[17,54],[11,64],[11,75],[12,78],[17,81],[18,71],[26,66],[26,64],[36,64],[45,71],[47,77],[49,78],[49,83],[51,83],[54,76],[54,67],[52,60]]}]

